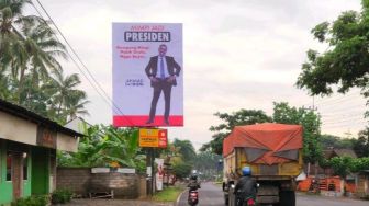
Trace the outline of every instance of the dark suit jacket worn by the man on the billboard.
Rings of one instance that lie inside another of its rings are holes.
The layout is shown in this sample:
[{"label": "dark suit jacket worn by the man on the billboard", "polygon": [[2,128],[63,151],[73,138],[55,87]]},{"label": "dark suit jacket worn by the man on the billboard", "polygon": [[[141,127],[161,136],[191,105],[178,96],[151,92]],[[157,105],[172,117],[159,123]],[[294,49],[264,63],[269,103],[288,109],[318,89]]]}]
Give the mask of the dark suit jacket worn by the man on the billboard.
[{"label": "dark suit jacket worn by the man on the billboard", "polygon": [[[179,72],[181,70],[180,66],[175,61],[174,57],[165,56],[165,59],[167,61],[167,68],[168,68],[168,73],[170,76],[179,76]],[[157,61],[158,61],[158,56],[150,57],[150,60],[148,61],[145,72],[148,78],[154,77],[157,78]],[[155,82],[152,81],[152,87],[155,85]],[[172,81],[172,85],[177,85],[177,81]]]}]

